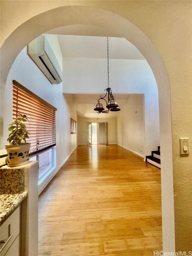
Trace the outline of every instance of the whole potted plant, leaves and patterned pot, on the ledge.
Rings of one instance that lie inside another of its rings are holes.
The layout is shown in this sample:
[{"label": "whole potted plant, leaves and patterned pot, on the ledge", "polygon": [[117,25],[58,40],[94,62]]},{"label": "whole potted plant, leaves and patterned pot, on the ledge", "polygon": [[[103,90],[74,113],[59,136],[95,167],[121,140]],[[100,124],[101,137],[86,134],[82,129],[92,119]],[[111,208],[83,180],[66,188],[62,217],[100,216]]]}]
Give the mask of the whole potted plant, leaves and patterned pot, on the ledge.
[{"label": "whole potted plant, leaves and patterned pot, on the ledge", "polygon": [[8,130],[11,131],[7,139],[9,144],[5,145],[9,163],[14,164],[14,166],[21,165],[20,163],[28,160],[31,145],[31,143],[26,142],[26,139],[29,138],[29,132],[23,123],[29,120],[26,115],[19,115],[21,117],[18,117],[16,121],[9,124],[10,127]]}]

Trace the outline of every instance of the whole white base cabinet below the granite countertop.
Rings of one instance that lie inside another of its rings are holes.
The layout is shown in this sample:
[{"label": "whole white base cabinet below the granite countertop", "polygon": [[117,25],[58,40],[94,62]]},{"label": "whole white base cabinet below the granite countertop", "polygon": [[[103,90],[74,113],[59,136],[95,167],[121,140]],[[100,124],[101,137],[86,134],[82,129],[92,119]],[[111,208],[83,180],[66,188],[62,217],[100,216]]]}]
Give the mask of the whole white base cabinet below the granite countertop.
[{"label": "whole white base cabinet below the granite countertop", "polygon": [[20,255],[20,206],[1,224],[0,256]]}]

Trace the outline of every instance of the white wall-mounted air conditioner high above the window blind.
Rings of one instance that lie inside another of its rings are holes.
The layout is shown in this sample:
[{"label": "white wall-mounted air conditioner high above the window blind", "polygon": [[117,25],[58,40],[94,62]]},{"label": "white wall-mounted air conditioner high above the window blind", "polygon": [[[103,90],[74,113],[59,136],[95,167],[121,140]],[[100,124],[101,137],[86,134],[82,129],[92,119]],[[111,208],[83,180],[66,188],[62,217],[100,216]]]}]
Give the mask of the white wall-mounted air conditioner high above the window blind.
[{"label": "white wall-mounted air conditioner high above the window blind", "polygon": [[28,54],[52,84],[62,82],[62,70],[44,35],[28,44]]}]

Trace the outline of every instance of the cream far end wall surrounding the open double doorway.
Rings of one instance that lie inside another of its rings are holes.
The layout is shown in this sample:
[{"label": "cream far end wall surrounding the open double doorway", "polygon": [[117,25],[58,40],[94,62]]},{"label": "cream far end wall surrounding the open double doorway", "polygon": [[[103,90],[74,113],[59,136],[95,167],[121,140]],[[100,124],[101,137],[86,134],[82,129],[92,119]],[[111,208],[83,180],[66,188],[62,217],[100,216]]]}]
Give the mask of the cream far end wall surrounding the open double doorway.
[{"label": "cream far end wall surrounding the open double doorway", "polygon": [[117,119],[116,118],[83,118],[78,117],[77,133],[78,144],[87,144],[87,122],[108,122],[108,143],[117,143]]}]

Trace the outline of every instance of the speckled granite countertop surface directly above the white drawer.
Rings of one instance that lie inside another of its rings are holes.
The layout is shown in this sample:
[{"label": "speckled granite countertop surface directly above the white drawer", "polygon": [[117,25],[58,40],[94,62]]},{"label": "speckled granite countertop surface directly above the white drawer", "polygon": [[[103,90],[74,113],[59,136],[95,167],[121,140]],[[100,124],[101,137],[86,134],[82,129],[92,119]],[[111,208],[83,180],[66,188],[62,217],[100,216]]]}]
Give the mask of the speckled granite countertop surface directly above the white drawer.
[{"label": "speckled granite countertop surface directly above the white drawer", "polygon": [[21,194],[0,195],[0,222],[9,216],[26,196],[27,191]]}]

